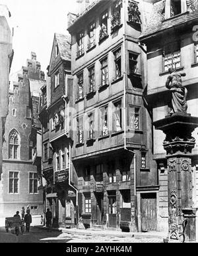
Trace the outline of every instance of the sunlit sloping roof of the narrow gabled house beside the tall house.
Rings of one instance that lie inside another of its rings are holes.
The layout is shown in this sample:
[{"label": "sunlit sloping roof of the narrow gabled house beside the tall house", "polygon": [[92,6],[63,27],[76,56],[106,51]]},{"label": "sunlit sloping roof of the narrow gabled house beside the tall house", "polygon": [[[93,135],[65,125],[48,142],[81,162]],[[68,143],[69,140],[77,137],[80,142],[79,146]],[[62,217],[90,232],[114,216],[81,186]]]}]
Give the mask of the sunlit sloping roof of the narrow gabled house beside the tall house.
[{"label": "sunlit sloping roof of the narrow gabled house beside the tall house", "polygon": [[71,61],[71,36],[55,33],[55,39],[57,40],[61,59]]}]

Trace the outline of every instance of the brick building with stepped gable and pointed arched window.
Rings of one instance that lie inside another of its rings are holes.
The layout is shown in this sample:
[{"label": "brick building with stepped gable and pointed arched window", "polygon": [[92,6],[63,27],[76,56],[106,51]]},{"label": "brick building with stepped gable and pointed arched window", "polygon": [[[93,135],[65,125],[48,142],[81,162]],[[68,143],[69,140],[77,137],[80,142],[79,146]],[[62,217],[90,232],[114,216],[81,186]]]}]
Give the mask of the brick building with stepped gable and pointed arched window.
[{"label": "brick building with stepped gable and pointed arched window", "polygon": [[18,74],[18,81],[13,82],[13,89],[9,91],[0,186],[1,218],[13,216],[22,206],[29,206],[32,215],[43,212],[42,193],[38,191],[40,180],[33,157],[36,133],[41,127],[38,112],[40,88],[46,84],[44,78],[40,62],[32,52],[27,65],[22,67],[22,74]]}]

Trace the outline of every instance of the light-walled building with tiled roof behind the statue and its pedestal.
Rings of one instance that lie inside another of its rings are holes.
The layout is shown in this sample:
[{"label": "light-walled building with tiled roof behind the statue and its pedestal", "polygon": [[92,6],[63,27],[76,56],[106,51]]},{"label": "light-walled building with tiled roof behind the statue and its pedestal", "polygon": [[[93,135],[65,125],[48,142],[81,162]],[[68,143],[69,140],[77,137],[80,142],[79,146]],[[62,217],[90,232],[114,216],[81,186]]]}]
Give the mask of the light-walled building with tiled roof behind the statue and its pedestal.
[{"label": "light-walled building with tiled roof behind the statue and its pedestal", "polygon": [[[140,37],[147,49],[148,86],[145,90],[152,121],[163,119],[170,113],[171,94],[166,89],[169,68],[185,73],[183,86],[187,89],[187,113],[198,116],[198,1],[166,0],[152,6],[150,23]],[[191,161],[191,207],[198,206],[198,137],[197,129],[192,136],[196,139]],[[154,160],[158,166],[158,229],[168,230],[168,170],[166,152],[163,148],[165,135],[153,128]],[[176,162],[172,162],[174,166]],[[179,200],[179,198],[178,198]]]}]

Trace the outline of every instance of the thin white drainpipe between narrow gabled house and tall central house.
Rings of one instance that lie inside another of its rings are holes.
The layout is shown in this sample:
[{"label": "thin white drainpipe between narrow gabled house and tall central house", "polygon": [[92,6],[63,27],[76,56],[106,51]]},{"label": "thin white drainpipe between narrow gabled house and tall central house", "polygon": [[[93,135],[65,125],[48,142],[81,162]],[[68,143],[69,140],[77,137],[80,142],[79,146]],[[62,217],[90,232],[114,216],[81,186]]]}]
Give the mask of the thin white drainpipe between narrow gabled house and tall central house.
[{"label": "thin white drainpipe between narrow gabled house and tall central house", "polygon": [[[63,95],[62,96],[63,100],[65,101],[65,135],[67,136],[67,130],[66,130],[66,127],[67,127],[67,119],[66,119],[66,109],[67,109],[67,101],[66,101],[66,96]],[[79,221],[79,191],[77,190],[77,188],[75,188],[72,184],[71,184],[71,177],[73,176],[73,172],[72,172],[72,168],[71,168],[71,142],[69,142],[69,186],[71,186],[71,188],[73,188],[73,190],[76,191],[76,212],[77,212],[77,224],[78,224],[78,221]],[[66,166],[65,166],[66,168]]]}]

